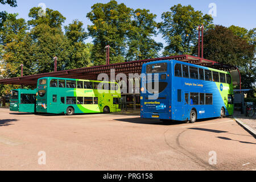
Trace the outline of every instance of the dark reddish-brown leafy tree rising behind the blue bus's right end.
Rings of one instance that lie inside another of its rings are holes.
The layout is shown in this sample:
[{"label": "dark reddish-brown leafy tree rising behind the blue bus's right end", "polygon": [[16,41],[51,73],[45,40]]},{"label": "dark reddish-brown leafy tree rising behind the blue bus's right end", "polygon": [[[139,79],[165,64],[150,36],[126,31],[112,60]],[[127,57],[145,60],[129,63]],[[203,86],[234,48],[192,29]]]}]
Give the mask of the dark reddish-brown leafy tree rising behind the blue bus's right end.
[{"label": "dark reddish-brown leafy tree rising behind the blue bus's right end", "polygon": [[256,76],[255,44],[248,33],[245,28],[215,26],[204,34],[204,58],[238,67],[242,88],[253,88]]}]

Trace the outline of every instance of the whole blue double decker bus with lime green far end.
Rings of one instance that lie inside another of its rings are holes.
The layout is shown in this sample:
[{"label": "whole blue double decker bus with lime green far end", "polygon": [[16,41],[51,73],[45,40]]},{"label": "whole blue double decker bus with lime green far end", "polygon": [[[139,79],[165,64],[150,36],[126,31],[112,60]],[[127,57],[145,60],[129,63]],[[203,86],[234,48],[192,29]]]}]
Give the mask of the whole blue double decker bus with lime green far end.
[{"label": "whole blue double decker bus with lime green far end", "polygon": [[143,64],[141,117],[190,121],[233,114],[229,72],[177,60]]}]

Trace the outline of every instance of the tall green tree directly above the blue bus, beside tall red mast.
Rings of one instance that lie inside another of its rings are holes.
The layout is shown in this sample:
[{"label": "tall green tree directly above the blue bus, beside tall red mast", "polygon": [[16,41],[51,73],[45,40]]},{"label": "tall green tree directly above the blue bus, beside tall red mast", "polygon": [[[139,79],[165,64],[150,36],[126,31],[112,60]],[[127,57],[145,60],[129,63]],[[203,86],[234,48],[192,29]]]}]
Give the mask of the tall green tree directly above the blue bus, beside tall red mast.
[{"label": "tall green tree directly above the blue bus, beside tall red mast", "polygon": [[172,6],[171,11],[162,14],[163,22],[158,24],[168,46],[164,48],[163,55],[191,54],[197,43],[197,27],[204,25],[205,30],[213,27],[213,18],[201,11],[195,11],[191,5],[181,4]]}]

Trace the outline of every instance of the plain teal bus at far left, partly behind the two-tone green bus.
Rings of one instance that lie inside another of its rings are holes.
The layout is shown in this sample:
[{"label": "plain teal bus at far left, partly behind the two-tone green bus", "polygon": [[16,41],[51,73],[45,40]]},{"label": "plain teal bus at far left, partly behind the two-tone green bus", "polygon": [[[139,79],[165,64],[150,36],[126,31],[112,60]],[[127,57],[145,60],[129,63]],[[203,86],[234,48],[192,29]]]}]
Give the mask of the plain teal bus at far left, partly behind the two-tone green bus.
[{"label": "plain teal bus at far left, partly behind the two-tone green bus", "polygon": [[10,94],[10,111],[35,113],[36,90],[14,89]]}]

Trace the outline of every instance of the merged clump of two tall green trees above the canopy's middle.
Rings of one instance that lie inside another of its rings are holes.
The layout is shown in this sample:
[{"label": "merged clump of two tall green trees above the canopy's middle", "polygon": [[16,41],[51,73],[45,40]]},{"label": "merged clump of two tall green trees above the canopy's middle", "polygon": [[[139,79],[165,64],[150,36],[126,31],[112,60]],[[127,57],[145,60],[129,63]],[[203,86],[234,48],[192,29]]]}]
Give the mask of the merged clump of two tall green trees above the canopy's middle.
[{"label": "merged clump of two tall green trees above the canopy's middle", "polygon": [[87,17],[92,22],[88,31],[93,38],[94,65],[105,64],[107,45],[111,63],[158,56],[162,44],[151,38],[156,35],[156,15],[149,10],[133,10],[124,3],[110,1],[93,5]]}]

